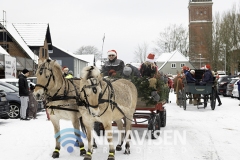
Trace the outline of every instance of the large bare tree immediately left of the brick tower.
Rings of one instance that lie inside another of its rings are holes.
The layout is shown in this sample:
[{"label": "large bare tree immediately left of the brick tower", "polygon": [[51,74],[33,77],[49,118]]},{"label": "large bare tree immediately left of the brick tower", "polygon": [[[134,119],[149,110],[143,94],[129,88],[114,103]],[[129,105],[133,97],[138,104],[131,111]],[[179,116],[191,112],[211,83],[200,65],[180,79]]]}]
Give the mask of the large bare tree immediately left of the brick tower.
[{"label": "large bare tree immediately left of the brick tower", "polygon": [[186,54],[188,51],[188,30],[182,25],[170,25],[159,33],[155,44],[157,45],[157,48],[154,48],[156,53],[172,52],[177,49]]}]

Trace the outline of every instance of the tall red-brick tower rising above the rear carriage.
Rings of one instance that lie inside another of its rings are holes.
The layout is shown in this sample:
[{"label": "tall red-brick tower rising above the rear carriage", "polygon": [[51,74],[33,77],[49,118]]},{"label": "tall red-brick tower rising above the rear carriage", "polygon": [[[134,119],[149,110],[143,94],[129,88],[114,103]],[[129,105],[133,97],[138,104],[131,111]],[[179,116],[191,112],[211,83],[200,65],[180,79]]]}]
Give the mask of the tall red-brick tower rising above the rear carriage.
[{"label": "tall red-brick tower rising above the rear carriage", "polygon": [[189,58],[198,69],[211,64],[212,0],[189,0]]}]

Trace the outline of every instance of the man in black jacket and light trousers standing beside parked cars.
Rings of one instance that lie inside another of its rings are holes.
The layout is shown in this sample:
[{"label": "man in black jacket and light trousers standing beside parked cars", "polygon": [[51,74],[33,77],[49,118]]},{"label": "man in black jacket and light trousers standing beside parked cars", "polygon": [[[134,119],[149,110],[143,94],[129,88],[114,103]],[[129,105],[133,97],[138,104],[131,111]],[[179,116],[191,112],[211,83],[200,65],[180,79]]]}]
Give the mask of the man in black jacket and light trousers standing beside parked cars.
[{"label": "man in black jacket and light trousers standing beside parked cars", "polygon": [[21,100],[20,120],[30,120],[26,115],[29,101],[29,88],[27,82],[28,76],[29,71],[27,69],[23,69],[22,73],[18,76],[19,96]]}]

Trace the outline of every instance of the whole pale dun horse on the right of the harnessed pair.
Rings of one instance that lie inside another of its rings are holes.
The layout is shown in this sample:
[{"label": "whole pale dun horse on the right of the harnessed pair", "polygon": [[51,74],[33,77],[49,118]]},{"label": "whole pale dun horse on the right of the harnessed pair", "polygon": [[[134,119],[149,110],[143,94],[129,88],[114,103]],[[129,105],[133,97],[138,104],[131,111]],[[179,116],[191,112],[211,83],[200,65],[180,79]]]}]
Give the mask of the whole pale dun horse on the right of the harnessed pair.
[{"label": "whole pale dun horse on the right of the harnessed pair", "polygon": [[[131,122],[137,104],[137,89],[135,85],[126,79],[118,79],[108,81],[101,77],[100,71],[93,66],[85,67],[82,70],[82,79],[80,82],[81,97],[84,97],[86,108],[80,107],[83,123],[87,130],[88,151],[84,160],[92,159],[92,143],[91,131],[95,121],[103,124],[107,132],[107,140],[109,142],[108,160],[115,159],[115,149],[112,144],[112,121],[118,125],[118,129],[122,130],[122,119],[125,118],[126,137],[130,139],[129,132],[131,130]],[[123,139],[116,147],[121,150]],[[125,153],[130,154],[129,141],[125,145]]]}]

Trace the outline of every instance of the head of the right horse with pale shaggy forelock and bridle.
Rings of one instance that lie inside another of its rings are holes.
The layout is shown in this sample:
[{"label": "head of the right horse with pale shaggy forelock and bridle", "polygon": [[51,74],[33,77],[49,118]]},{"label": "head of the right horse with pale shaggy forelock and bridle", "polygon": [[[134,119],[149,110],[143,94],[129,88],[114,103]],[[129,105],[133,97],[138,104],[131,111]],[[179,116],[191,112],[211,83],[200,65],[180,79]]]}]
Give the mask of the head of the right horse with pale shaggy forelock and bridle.
[{"label": "head of the right horse with pale shaggy forelock and bridle", "polygon": [[84,97],[86,108],[93,116],[99,114],[99,97],[102,93],[100,86],[100,70],[95,66],[87,66],[82,70],[82,79],[80,82],[81,97]]}]

